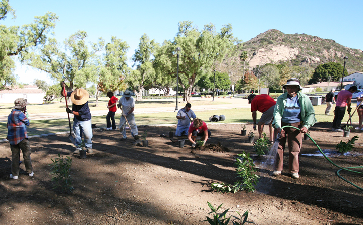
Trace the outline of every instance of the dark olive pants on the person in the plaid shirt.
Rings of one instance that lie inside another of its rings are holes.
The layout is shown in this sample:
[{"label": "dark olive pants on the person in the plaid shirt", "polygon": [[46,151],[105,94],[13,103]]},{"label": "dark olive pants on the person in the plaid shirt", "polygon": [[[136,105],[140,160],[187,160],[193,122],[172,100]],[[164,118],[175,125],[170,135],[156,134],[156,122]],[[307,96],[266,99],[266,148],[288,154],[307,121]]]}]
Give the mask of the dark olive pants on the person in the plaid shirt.
[{"label": "dark olive pants on the person in the plaid shirt", "polygon": [[31,164],[30,158],[30,144],[28,139],[24,139],[20,141],[17,145],[10,145],[10,149],[12,151],[12,174],[13,176],[19,176],[19,158],[20,158],[20,149],[23,152],[23,159],[25,169],[28,173],[33,172],[33,166]]}]

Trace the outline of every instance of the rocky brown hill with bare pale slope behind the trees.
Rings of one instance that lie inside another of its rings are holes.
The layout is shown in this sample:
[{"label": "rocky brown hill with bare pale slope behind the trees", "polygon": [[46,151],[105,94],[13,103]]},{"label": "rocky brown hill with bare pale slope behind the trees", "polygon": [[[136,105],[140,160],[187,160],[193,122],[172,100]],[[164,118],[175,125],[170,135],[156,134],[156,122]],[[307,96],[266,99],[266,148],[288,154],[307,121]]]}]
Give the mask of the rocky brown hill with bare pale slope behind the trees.
[{"label": "rocky brown hill with bare pale slope behind the trees", "polygon": [[243,43],[243,51],[248,52],[249,68],[266,63],[309,65],[313,68],[326,62],[344,64],[348,56],[348,73],[363,71],[363,51],[344,47],[334,40],[323,39],[308,34],[284,34],[271,29]]}]

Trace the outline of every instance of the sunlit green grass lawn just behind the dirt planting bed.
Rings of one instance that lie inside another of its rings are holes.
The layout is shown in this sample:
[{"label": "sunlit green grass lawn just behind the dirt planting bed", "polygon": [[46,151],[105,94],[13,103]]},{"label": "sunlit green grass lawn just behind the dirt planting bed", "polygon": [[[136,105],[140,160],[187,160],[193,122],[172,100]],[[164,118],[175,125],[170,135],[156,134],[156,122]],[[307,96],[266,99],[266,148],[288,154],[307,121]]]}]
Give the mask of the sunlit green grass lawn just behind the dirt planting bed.
[{"label": "sunlit green grass lawn just behind the dirt planting bed", "polygon": [[[197,102],[197,101],[196,101]],[[203,101],[204,102],[204,101]],[[146,102],[145,102],[146,103]],[[205,103],[205,102],[204,102]],[[212,103],[212,102],[211,102]],[[215,103],[215,102],[214,102]],[[152,103],[154,104],[154,103]],[[175,102],[173,102],[175,104]],[[204,105],[204,104],[203,104]],[[43,105],[38,105],[42,108]],[[333,106],[334,109],[335,106]],[[37,108],[37,110],[41,110]],[[324,114],[326,105],[314,106],[316,119],[318,122],[333,122],[334,116],[331,111],[331,116]],[[354,110],[355,108],[353,108]],[[45,109],[43,109],[45,110]],[[63,111],[64,109],[62,109]],[[48,111],[48,110],[47,110]],[[217,123],[251,123],[252,114],[250,109],[223,109],[223,110],[210,110],[210,111],[196,111],[198,118],[208,123],[208,118],[213,115],[224,115],[225,121]],[[257,118],[261,117],[261,113],[258,112]],[[346,123],[349,115],[345,113],[342,124]],[[116,114],[116,124],[118,125],[120,114]],[[150,114],[136,114],[135,120],[137,125],[157,125],[157,124],[177,124],[176,112],[165,112],[165,113],[150,113]],[[358,115],[353,115],[353,122],[358,122]],[[72,121],[71,121],[72,123]],[[106,127],[106,116],[94,116],[92,117],[92,124],[96,124],[97,127]],[[72,124],[71,124],[72,125]],[[30,122],[28,127],[28,135],[39,135],[46,133],[56,133],[69,131],[68,119],[58,120],[33,120]],[[7,136],[6,123],[0,123],[0,139],[5,139]]]}]

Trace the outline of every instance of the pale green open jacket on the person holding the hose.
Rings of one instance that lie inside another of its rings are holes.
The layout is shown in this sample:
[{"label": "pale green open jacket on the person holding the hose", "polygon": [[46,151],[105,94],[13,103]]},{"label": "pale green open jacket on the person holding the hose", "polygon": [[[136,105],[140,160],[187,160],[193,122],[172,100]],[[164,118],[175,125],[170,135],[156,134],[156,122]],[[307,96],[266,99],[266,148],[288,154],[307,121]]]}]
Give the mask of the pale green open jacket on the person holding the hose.
[{"label": "pale green open jacket on the person holding the hose", "polygon": [[[277,103],[274,109],[273,121],[273,126],[275,128],[281,128],[281,118],[285,110],[287,95],[288,94],[286,92],[277,98]],[[297,92],[297,99],[301,107],[301,121],[304,122],[304,126],[309,129],[311,126],[314,125],[314,123],[317,122],[317,120],[315,119],[314,107],[310,101],[310,98],[305,94]]]}]

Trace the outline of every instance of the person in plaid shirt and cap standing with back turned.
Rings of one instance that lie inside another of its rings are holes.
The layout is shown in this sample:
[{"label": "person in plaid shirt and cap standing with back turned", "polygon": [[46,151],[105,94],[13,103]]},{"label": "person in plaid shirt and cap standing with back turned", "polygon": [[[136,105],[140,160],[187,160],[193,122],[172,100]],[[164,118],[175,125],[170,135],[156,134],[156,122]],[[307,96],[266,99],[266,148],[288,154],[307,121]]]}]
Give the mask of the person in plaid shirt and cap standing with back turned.
[{"label": "person in plaid shirt and cap standing with back turned", "polygon": [[23,98],[18,98],[14,101],[14,107],[8,116],[8,136],[7,139],[10,143],[12,151],[12,168],[10,178],[18,179],[19,176],[19,159],[20,149],[23,151],[23,158],[26,171],[29,176],[34,176],[33,166],[30,158],[30,145],[28,141],[28,134],[26,126],[29,126],[29,119],[24,114],[28,103]]}]

